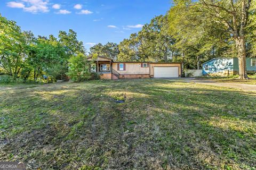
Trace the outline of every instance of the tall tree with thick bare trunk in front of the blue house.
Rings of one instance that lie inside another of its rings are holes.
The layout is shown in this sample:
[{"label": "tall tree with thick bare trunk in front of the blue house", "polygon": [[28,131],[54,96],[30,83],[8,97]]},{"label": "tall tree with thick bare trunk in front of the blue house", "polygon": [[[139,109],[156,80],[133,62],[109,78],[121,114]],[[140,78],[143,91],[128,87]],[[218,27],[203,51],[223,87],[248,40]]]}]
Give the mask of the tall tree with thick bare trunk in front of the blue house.
[{"label": "tall tree with thick bare trunk in front of the blue house", "polygon": [[203,16],[204,20],[202,21],[214,23],[223,32],[229,33],[236,46],[240,79],[248,78],[246,73],[246,36],[248,35],[247,26],[250,25],[250,15],[255,15],[255,8],[252,8],[255,3],[255,0],[199,0],[193,3],[197,6],[196,8],[190,7],[191,12]]}]

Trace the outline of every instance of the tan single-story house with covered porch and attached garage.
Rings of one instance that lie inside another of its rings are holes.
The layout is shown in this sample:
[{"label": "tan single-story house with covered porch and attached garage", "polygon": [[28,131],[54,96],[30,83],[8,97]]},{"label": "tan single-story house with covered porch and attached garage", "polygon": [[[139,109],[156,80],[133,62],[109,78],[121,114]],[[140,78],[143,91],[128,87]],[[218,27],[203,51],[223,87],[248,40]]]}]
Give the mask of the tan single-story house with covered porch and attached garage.
[{"label": "tan single-story house with covered porch and attached garage", "polygon": [[101,79],[181,77],[181,63],[114,62],[106,57],[88,60],[94,61],[91,71],[99,73]]}]

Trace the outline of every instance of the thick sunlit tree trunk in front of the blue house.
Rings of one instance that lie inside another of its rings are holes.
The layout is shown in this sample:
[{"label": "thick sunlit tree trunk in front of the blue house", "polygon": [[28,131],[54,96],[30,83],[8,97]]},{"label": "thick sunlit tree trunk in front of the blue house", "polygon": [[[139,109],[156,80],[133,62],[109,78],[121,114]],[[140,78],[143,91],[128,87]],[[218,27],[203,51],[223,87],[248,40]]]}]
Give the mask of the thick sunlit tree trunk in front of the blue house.
[{"label": "thick sunlit tree trunk in front of the blue house", "polygon": [[245,37],[238,37],[236,39],[236,48],[238,52],[239,78],[248,79],[246,72],[246,48]]}]

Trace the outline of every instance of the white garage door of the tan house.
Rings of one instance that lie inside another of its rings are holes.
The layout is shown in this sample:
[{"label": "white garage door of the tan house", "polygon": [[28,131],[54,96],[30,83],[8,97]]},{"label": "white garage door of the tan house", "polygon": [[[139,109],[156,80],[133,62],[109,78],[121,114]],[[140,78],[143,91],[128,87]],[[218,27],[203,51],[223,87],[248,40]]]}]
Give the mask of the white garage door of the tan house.
[{"label": "white garage door of the tan house", "polygon": [[178,78],[179,67],[154,67],[154,78]]}]

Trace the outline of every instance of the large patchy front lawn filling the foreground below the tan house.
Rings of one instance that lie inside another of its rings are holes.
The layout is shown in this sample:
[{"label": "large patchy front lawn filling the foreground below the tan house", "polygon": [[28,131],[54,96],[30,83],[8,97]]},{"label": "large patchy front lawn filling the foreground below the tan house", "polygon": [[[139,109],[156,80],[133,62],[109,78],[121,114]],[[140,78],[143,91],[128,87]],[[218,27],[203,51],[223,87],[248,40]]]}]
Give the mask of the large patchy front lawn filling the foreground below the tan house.
[{"label": "large patchy front lawn filling the foreground below the tan house", "polygon": [[100,80],[1,86],[0,100],[0,160],[28,169],[255,169],[255,92]]}]

